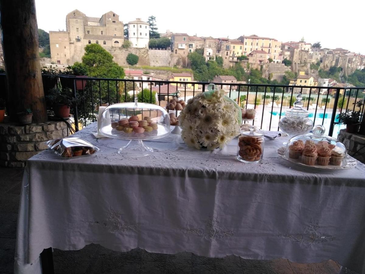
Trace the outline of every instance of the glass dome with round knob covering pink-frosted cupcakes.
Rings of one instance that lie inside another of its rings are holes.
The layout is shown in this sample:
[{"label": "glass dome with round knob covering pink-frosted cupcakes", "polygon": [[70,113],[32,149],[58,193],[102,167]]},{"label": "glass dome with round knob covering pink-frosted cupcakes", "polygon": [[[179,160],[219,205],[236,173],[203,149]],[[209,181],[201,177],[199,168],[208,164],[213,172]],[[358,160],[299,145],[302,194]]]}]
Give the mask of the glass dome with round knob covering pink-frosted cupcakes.
[{"label": "glass dome with round knob covering pink-frosted cupcakes", "polygon": [[288,160],[321,168],[345,167],[347,151],[345,145],[331,136],[324,135],[322,125],[316,125],[312,133],[292,137],[286,146]]}]

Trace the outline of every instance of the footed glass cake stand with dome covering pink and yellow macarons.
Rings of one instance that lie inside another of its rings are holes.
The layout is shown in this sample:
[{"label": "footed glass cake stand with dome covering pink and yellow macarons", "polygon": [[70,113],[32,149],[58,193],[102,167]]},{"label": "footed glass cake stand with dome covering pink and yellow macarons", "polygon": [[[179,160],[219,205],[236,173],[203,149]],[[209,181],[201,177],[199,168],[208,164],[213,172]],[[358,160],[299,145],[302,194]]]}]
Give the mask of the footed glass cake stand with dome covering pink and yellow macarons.
[{"label": "footed glass cake stand with dome covering pink and yellow macarons", "polygon": [[142,141],[170,134],[170,117],[163,107],[138,103],[137,97],[134,100],[134,103],[108,106],[101,114],[100,133],[107,137],[131,140],[128,145],[119,149],[119,154],[145,156],[153,150]]}]

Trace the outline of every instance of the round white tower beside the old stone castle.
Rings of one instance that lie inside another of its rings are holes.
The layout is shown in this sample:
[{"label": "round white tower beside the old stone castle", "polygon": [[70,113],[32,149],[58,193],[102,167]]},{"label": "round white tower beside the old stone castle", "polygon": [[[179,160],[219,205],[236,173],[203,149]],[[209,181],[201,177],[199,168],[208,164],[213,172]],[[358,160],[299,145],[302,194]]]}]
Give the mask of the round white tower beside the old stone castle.
[{"label": "round white tower beside the old stone castle", "polygon": [[148,47],[150,41],[150,25],[137,18],[128,22],[128,40],[132,47]]}]

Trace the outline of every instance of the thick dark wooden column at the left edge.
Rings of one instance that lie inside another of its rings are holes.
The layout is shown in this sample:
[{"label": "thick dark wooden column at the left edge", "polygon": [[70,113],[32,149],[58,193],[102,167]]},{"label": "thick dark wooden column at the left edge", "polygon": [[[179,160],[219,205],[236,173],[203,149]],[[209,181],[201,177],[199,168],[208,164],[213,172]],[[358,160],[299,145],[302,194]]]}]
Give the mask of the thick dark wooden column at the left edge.
[{"label": "thick dark wooden column at the left edge", "polygon": [[0,0],[0,25],[10,119],[16,121],[16,113],[31,109],[33,122],[45,122],[35,0]]}]

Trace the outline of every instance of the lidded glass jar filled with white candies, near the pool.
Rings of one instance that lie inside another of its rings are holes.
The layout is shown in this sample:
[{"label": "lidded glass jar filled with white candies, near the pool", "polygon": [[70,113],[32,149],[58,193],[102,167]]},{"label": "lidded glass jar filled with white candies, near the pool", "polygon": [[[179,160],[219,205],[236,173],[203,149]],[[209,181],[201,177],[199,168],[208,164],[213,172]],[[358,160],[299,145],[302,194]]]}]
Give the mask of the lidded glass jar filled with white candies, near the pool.
[{"label": "lidded glass jar filled with white candies, near the pool", "polygon": [[285,111],[285,116],[279,121],[279,128],[289,136],[305,134],[312,130],[313,121],[309,119],[309,111],[303,109],[303,97],[298,94],[294,107]]}]

